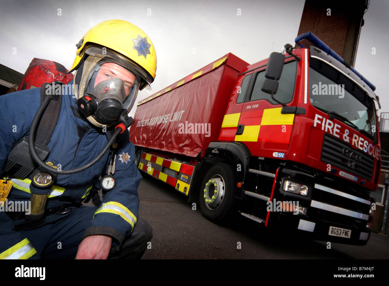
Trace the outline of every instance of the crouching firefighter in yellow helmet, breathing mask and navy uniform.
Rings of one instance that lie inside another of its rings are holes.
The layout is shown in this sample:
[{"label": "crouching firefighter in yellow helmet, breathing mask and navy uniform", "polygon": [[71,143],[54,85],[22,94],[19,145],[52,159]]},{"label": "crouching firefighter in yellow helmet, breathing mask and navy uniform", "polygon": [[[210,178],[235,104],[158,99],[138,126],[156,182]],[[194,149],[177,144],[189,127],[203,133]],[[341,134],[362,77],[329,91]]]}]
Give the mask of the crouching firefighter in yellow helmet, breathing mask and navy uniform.
[{"label": "crouching firefighter in yellow helmet, breathing mask and navy uniform", "polygon": [[[65,175],[58,166],[73,170],[107,146],[119,114],[126,116],[138,90],[149,89],[154,81],[154,46],[142,30],[122,20],[94,26],[76,46],[69,70],[75,71],[74,80],[68,83],[72,94],[63,95],[60,116],[47,143],[50,151],[45,161],[52,162],[58,174],[45,198],[43,217],[31,220],[29,212],[37,207],[32,198],[39,197],[33,183],[46,173],[25,179],[3,174],[2,184],[12,182],[12,189],[8,211],[0,212],[0,259],[140,258],[152,238],[151,226],[138,218],[141,175],[127,130],[110,146],[111,153],[86,170]],[[40,96],[41,88],[32,88],[0,97],[3,169],[14,144],[29,135]],[[107,174],[113,167],[114,172]],[[104,195],[98,207],[81,204],[100,187]],[[11,202],[26,208],[12,210]]]}]

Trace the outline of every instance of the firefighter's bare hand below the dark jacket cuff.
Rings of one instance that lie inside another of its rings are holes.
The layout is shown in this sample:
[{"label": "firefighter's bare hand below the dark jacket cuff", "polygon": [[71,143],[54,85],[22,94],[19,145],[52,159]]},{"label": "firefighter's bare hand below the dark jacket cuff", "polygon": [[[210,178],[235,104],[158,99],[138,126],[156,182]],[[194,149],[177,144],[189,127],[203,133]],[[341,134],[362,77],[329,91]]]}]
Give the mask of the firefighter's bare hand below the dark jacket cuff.
[{"label": "firefighter's bare hand below the dark jacket cuff", "polygon": [[90,235],[78,246],[75,259],[107,259],[112,245],[112,237],[108,235]]}]

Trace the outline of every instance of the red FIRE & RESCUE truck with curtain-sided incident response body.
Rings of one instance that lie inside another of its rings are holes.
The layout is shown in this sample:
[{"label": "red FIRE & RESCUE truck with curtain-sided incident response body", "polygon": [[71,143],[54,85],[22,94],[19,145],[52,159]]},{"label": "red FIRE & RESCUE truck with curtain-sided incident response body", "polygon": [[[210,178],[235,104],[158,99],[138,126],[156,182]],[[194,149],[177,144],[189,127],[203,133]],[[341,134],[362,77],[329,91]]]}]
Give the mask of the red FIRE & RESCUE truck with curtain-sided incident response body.
[{"label": "red FIRE & RESCUE truck with curtain-sided incident response body", "polygon": [[380,174],[375,86],[313,33],[252,65],[228,53],[141,100],[139,170],[215,223],[364,245]]}]

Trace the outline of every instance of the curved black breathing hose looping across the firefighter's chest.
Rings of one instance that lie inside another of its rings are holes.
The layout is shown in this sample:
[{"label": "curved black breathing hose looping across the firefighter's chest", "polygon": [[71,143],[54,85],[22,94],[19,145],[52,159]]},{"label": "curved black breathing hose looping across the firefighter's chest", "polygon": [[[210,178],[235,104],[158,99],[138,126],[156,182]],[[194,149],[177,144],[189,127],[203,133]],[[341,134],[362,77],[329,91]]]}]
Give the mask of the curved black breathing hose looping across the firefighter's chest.
[{"label": "curved black breathing hose looping across the firefighter's chest", "polygon": [[40,167],[46,169],[49,172],[52,172],[55,174],[70,175],[70,174],[75,174],[75,173],[81,172],[83,170],[86,170],[89,167],[92,167],[108,151],[109,147],[112,145],[112,143],[116,139],[117,135],[119,135],[121,132],[124,131],[123,127],[122,127],[123,125],[122,126],[118,125],[115,132],[112,134],[112,137],[109,139],[107,145],[105,145],[104,149],[97,155],[97,157],[95,159],[93,159],[89,163],[87,163],[84,166],[81,166],[79,168],[58,171],[56,168],[49,167],[44,161],[42,161],[39,158],[37,151],[35,150],[35,143],[34,143],[35,142],[35,133],[36,133],[40,118],[42,118],[42,115],[43,115],[44,111],[46,110],[47,105],[49,105],[49,102],[51,99],[52,99],[51,97],[46,97],[46,99],[44,100],[42,105],[39,107],[37,114],[35,114],[35,117],[32,121],[31,128],[30,128],[30,136],[29,136],[30,138],[28,140],[28,145],[30,146],[30,153],[32,155],[32,158],[35,160],[35,162],[37,162],[37,164]]}]

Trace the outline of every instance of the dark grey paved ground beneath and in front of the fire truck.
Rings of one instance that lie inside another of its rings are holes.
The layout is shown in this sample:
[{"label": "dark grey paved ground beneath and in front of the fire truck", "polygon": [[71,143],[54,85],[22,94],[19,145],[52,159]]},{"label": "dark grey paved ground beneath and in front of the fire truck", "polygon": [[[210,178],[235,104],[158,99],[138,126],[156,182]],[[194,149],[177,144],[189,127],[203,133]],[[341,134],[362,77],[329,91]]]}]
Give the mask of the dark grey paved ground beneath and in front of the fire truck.
[{"label": "dark grey paved ground beneath and in front of the fire truck", "polygon": [[[366,246],[293,239],[274,234],[254,221],[238,218],[219,226],[192,210],[187,197],[144,175],[139,186],[140,216],[154,230],[142,259],[388,259],[389,239],[373,233]],[[241,249],[238,249],[238,242]]]}]

